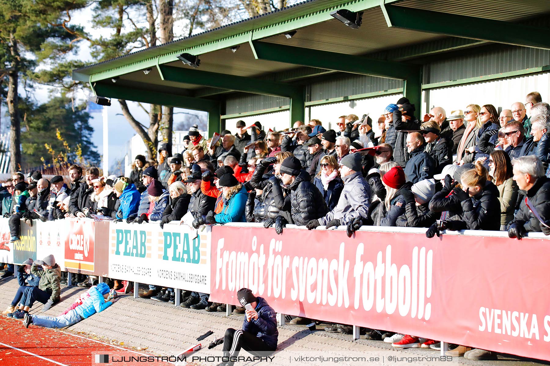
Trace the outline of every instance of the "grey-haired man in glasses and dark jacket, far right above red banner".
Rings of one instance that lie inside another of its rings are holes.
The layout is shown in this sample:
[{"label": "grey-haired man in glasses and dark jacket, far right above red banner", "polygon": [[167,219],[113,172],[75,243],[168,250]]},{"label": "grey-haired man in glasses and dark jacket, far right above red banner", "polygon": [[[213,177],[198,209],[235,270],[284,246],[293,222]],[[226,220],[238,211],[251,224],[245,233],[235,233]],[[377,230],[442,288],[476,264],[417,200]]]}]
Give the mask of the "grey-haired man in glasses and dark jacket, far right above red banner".
[{"label": "grey-haired man in glasses and dark jacket, far right above red banner", "polygon": [[544,176],[542,162],[534,155],[521,156],[512,161],[514,181],[525,199],[508,225],[508,236],[521,239],[530,232],[540,232],[541,224],[534,209],[544,222],[550,219],[550,179]]}]

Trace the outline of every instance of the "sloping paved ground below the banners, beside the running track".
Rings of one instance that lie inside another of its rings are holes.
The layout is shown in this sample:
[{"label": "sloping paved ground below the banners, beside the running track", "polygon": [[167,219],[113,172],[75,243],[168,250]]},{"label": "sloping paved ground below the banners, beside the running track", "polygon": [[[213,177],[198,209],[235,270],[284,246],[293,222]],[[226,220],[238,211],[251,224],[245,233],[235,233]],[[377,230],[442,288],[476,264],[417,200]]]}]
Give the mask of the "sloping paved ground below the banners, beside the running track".
[{"label": "sloping paved ground below the banners, beside the running track", "polygon": [[[2,310],[13,299],[15,290],[17,290],[17,280],[12,278],[0,282],[0,307]],[[62,301],[45,314],[57,315],[61,313],[84,291],[85,289],[78,287],[62,288]],[[42,313],[42,304],[37,303],[31,310],[31,314],[33,313]],[[133,295],[130,294],[123,296],[106,311],[95,314],[64,331],[127,347],[130,350],[168,356],[178,354],[196,345],[199,343],[196,341],[196,337],[212,330],[214,334],[200,342],[203,347],[208,346],[215,338],[223,337],[227,328],[240,328],[243,317],[241,315],[226,317],[225,313],[194,311],[153,300],[133,299]],[[322,326],[317,328],[322,329]],[[399,359],[398,362],[392,362],[395,357],[417,357],[415,361],[412,361],[413,364],[443,364],[441,361],[434,360],[439,356],[438,351],[420,348],[395,350],[390,344],[381,341],[357,340],[353,342],[351,335],[330,334],[323,330],[310,331],[306,326],[300,325],[279,326],[278,330],[278,352],[273,362],[269,363],[272,365],[318,365],[321,363],[318,359],[306,361],[304,357],[344,355],[366,357],[366,363],[373,365],[411,363],[410,361],[400,362]],[[204,349],[197,352],[196,355],[221,355],[221,350],[222,346],[217,346],[212,351]],[[248,356],[248,353],[242,352],[241,356]],[[216,363],[197,361],[194,365]],[[352,359],[338,363],[344,365],[365,364],[365,360],[353,362]],[[538,361],[505,355],[499,356],[499,361],[469,361],[460,357],[453,358],[452,363],[520,366],[536,364]]]}]

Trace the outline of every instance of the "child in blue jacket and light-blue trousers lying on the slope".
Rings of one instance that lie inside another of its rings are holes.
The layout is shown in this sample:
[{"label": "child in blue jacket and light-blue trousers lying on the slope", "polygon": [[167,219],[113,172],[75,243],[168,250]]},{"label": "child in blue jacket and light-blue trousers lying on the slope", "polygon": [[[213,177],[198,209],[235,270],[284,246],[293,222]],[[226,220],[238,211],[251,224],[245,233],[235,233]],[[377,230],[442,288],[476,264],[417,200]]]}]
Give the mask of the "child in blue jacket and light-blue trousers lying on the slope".
[{"label": "child in blue jacket and light-blue trousers lying on the slope", "polygon": [[82,305],[76,306],[68,313],[58,317],[31,316],[27,313],[23,319],[23,325],[25,325],[25,328],[29,328],[30,324],[43,326],[45,328],[64,328],[65,326],[74,325],[80,322],[80,320],[91,317],[95,313],[102,312],[113,303],[117,302],[118,299],[106,301],[109,297],[109,292],[109,286],[106,283],[100,283],[87,291],[90,296],[83,300]]}]

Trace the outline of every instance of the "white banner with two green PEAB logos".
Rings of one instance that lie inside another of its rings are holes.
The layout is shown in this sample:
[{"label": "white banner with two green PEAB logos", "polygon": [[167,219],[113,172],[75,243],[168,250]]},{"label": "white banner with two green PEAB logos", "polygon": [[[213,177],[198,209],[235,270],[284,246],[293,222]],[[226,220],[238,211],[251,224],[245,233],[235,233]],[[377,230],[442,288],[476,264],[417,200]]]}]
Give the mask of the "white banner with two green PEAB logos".
[{"label": "white banner with two green PEAB logos", "polygon": [[111,223],[109,277],[210,292],[210,228]]}]

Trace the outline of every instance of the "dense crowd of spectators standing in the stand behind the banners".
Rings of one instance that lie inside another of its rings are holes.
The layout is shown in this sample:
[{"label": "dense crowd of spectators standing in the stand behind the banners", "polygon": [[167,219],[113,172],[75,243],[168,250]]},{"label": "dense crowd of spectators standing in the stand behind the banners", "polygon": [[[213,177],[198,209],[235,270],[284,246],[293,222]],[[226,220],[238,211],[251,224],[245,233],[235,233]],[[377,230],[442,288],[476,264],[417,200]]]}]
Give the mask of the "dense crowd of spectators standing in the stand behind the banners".
[{"label": "dense crowd of spectators standing in the stand behind the banners", "polygon": [[[491,104],[469,104],[449,116],[434,107],[421,119],[415,112],[400,98],[381,109],[376,128],[370,116],[353,114],[340,116],[337,130],[316,119],[267,132],[260,122],[238,121],[236,134],[226,130],[207,139],[193,126],[184,151],[172,154],[163,143],[158,164],[138,155],[129,177],[102,177],[96,167],[77,165],[69,167],[68,182],[62,176],[48,181],[40,172],[25,181],[15,172],[0,192],[10,241],[19,240],[21,219],[31,224],[90,215],[161,227],[189,222],[189,215],[195,228],[259,222],[277,234],[287,224],[345,226],[349,237],[364,225],[423,227],[428,238],[462,229],[507,230],[517,239],[550,234],[550,106],[539,93],[500,114]],[[154,285],[141,295],[166,302],[174,296],[173,289]],[[186,294],[182,306],[225,310],[196,292]],[[414,336],[362,332],[373,339],[386,335],[395,347],[437,347]],[[477,358],[492,357],[475,351]]]}]

